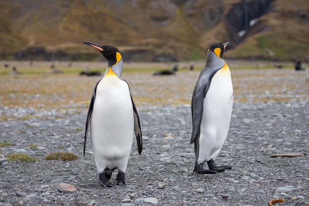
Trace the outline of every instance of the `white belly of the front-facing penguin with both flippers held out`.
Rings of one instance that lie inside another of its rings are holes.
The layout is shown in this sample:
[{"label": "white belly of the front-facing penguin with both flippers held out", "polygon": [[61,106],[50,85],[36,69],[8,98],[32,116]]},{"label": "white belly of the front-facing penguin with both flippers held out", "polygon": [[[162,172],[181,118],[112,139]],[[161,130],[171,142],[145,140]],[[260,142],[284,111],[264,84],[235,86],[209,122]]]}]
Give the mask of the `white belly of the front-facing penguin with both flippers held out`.
[{"label": "white belly of the front-facing penguin with both flippers held out", "polygon": [[125,172],[134,132],[129,87],[117,77],[99,82],[90,120],[92,151],[98,172],[118,168]]}]

